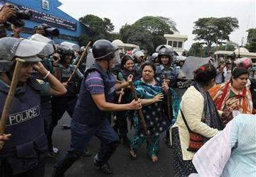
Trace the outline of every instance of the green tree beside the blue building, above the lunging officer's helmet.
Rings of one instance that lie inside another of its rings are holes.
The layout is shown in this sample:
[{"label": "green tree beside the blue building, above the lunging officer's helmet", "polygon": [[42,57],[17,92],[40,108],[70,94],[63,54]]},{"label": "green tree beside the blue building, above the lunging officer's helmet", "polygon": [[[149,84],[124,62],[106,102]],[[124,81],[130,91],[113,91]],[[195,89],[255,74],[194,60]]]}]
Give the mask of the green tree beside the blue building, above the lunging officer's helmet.
[{"label": "green tree beside the blue building, above the lunging officer's helmet", "polygon": [[95,42],[100,39],[112,40],[114,35],[114,25],[109,18],[100,18],[94,15],[86,15],[79,18],[79,21],[87,27],[88,34],[83,34],[79,38],[80,45],[86,45],[89,40]]}]

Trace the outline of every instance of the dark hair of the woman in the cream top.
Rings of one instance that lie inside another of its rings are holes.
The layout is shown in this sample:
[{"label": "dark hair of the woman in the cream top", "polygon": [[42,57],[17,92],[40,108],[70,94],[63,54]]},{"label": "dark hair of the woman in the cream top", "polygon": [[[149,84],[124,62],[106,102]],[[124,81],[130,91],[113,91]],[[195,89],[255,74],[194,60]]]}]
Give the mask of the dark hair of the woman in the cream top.
[{"label": "dark hair of the woman in the cream top", "polygon": [[215,79],[217,71],[212,64],[203,64],[200,68],[194,71],[194,79],[202,86],[207,86],[209,81]]}]

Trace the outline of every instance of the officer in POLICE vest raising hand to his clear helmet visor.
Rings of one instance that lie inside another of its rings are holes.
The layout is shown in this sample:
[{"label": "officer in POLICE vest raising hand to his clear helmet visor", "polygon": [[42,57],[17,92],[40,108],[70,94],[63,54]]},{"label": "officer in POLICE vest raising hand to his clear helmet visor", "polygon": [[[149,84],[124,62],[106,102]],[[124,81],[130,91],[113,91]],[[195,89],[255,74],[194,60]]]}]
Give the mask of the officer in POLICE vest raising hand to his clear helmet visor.
[{"label": "officer in POLICE vest raising hand to his clear helmet visor", "polygon": [[[6,120],[6,135],[0,137],[5,141],[3,149],[0,149],[0,176],[44,176],[47,141],[40,111],[41,93],[58,95],[65,93],[66,89],[39,62],[41,59],[37,55],[43,55],[42,51],[52,53],[53,47],[21,38],[0,39],[0,114],[14,74],[15,59],[23,60]],[[30,77],[33,69],[48,79],[47,86],[41,87],[36,79]]]}]

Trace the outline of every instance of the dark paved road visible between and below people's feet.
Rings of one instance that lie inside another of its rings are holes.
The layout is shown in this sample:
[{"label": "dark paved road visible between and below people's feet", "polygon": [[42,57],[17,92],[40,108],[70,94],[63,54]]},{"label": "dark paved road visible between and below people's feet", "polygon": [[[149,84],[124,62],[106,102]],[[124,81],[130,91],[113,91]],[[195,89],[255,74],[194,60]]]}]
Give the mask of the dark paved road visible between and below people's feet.
[{"label": "dark paved road visible between and below people's feet", "polygon": [[[53,135],[53,144],[58,147],[61,152],[60,156],[63,156],[67,152],[70,144],[70,130],[62,130],[60,125],[67,124],[70,122],[70,118],[67,113],[63,115],[62,120],[59,121],[58,126],[55,128]],[[129,137],[132,137],[133,131],[129,133]],[[110,165],[114,169],[114,174],[105,175],[97,171],[92,165],[93,157],[82,157],[71,166],[67,171],[66,177],[76,176],[110,176],[110,177],[129,177],[129,176],[149,176],[149,177],[165,177],[174,176],[172,166],[171,149],[164,144],[164,135],[161,135],[160,151],[158,154],[159,161],[155,164],[151,162],[146,154],[145,144],[137,152],[137,159],[132,160],[129,158],[128,149],[120,144],[117,147],[117,151],[110,159]],[[95,155],[100,148],[100,141],[93,137],[90,142],[90,149],[92,154]],[[52,172],[52,166],[55,164],[60,156],[55,159],[47,159],[46,161],[46,176],[50,176]]]}]

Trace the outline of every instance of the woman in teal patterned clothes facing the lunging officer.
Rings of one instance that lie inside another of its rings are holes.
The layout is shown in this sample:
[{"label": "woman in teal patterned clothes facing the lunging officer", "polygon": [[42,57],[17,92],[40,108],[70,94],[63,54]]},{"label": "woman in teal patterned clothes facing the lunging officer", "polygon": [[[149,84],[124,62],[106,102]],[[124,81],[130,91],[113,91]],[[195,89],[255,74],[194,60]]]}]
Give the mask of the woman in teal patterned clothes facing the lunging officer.
[{"label": "woman in teal patterned clothes facing the lunging officer", "polygon": [[160,84],[159,81],[154,79],[156,67],[151,62],[145,62],[142,64],[142,79],[139,79],[134,83],[137,91],[137,95],[142,100],[142,113],[146,122],[146,127],[149,132],[149,137],[146,137],[142,122],[136,114],[134,116],[134,128],[135,135],[132,139],[130,156],[132,159],[137,157],[137,149],[149,140],[147,143],[149,157],[151,161],[158,160],[156,153],[159,151],[159,135],[161,132],[166,131],[171,125],[171,120],[164,113],[162,108],[162,101],[166,99],[164,94],[171,93],[172,103],[172,119],[174,119],[178,113],[178,96],[173,92],[168,84]]}]

